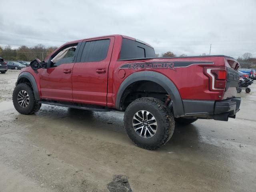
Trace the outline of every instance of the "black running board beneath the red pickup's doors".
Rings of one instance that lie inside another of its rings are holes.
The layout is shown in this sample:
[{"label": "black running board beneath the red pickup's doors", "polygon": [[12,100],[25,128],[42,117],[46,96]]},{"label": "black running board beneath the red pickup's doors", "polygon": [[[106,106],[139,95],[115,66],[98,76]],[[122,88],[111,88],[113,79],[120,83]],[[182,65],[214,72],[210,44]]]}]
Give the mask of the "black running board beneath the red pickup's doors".
[{"label": "black running board beneath the red pickup's doors", "polygon": [[70,107],[75,109],[90,110],[90,111],[110,111],[109,108],[97,107],[97,106],[82,106],[82,105],[76,105],[76,104],[64,104],[64,103],[56,103],[56,102],[50,102],[50,101],[38,101],[38,103],[47,104],[47,105],[56,105],[61,107]]}]

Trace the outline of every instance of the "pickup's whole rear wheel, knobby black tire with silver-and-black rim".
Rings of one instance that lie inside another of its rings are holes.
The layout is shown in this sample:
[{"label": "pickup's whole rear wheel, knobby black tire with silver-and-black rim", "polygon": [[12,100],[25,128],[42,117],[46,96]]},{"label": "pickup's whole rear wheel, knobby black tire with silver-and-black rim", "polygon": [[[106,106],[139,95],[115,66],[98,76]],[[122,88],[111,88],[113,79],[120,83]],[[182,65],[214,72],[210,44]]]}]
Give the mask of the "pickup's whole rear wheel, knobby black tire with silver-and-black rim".
[{"label": "pickup's whole rear wheel, knobby black tire with silver-and-black rim", "polygon": [[174,132],[174,116],[159,99],[144,97],[133,101],[124,113],[124,129],[141,148],[154,150],[166,144]]}]

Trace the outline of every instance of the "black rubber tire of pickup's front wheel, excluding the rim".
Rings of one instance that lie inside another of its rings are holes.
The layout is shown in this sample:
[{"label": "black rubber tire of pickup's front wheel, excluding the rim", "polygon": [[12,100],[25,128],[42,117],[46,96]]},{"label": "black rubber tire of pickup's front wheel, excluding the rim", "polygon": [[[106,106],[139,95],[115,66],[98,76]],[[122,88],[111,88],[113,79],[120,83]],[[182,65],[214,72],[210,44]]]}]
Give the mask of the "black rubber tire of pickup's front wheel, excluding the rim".
[{"label": "black rubber tire of pickup's front wheel, excluding the rim", "polygon": [[[25,90],[29,96],[28,106],[26,106],[25,108],[22,108],[18,104],[17,96],[21,90]],[[24,115],[34,114],[34,113],[38,112],[38,110],[41,107],[41,104],[38,103],[38,101],[35,99],[34,92],[33,92],[32,88],[29,86],[29,84],[26,84],[26,83],[20,83],[14,88],[13,93],[12,93],[12,102],[13,102],[14,108],[19,113],[24,114]]]}]

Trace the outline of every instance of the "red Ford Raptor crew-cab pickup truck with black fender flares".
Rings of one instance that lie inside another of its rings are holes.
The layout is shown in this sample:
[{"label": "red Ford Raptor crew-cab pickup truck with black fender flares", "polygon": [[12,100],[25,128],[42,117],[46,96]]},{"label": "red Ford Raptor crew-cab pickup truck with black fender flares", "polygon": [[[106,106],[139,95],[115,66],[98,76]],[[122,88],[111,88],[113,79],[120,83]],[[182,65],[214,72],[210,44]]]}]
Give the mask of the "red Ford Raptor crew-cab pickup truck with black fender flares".
[{"label": "red Ford Raptor crew-cab pickup truck with black fender flares", "polygon": [[14,107],[33,114],[41,104],[124,112],[130,139],[153,150],[168,142],[175,122],[235,118],[238,68],[234,58],[156,58],[140,40],[110,35],[68,42],[21,70]]}]

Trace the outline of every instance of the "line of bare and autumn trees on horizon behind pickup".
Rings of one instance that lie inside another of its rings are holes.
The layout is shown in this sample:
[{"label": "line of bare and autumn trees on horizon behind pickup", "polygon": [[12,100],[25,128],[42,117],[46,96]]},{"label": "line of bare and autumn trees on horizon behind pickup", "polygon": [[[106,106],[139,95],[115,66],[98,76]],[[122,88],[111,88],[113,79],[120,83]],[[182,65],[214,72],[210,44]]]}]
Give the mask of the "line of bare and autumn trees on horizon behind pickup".
[{"label": "line of bare and autumn trees on horizon behind pickup", "polygon": [[[35,58],[44,60],[49,54],[56,50],[57,46],[45,47],[43,44],[38,44],[34,47],[27,47],[25,45],[20,46],[19,48],[13,49],[10,45],[2,48],[0,46],[0,57],[5,60],[22,60],[22,61],[32,61]],[[200,56],[207,56],[208,54],[202,53]],[[171,51],[167,51],[162,54],[156,54],[156,57],[185,57],[186,54],[176,55]],[[237,58],[239,62],[256,62],[256,58],[252,57],[251,53],[244,53],[242,56]]]}]

